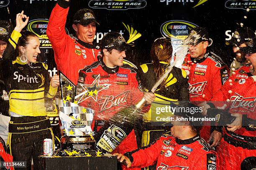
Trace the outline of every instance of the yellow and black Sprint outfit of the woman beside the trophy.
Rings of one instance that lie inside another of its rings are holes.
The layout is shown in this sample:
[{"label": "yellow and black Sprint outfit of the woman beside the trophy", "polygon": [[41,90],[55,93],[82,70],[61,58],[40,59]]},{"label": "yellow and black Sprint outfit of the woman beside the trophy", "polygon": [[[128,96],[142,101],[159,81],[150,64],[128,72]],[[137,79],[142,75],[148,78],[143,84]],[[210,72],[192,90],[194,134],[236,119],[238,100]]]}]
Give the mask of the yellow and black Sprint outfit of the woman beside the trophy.
[{"label": "yellow and black Sprint outfit of the woman beside the trophy", "polygon": [[[4,60],[11,60],[20,36],[19,32],[13,31]],[[10,154],[13,161],[26,161],[27,169],[31,169],[32,157],[34,169],[39,170],[42,164],[38,156],[43,154],[44,139],[54,141],[44,98],[54,97],[57,88],[51,87],[47,65],[42,62],[28,65],[17,57],[13,62],[7,63],[10,63],[5,74],[11,116],[8,136]]]}]

